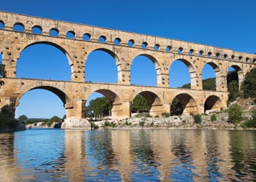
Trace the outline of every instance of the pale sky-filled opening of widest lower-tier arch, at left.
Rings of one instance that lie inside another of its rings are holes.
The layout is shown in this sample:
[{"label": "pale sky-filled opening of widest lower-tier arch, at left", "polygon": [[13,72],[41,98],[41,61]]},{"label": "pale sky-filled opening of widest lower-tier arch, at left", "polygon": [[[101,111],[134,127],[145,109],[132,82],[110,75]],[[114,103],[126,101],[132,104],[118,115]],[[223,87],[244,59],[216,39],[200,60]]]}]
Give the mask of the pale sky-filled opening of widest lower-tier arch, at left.
[{"label": "pale sky-filled opening of widest lower-tier arch, at left", "polygon": [[[26,115],[30,119],[63,118],[66,114],[64,92],[53,87],[37,87],[26,92],[15,109],[15,117]],[[38,120],[39,121],[39,120]]]}]

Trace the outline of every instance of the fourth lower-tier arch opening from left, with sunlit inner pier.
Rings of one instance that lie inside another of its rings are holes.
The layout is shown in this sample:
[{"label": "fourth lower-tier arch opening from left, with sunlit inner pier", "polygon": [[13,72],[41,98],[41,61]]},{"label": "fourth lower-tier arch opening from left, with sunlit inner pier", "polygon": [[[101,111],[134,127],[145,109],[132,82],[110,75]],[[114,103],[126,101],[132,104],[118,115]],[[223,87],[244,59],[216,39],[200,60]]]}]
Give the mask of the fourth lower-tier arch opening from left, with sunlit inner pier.
[{"label": "fourth lower-tier arch opening from left, with sunlit inner pier", "polygon": [[171,103],[171,115],[189,115],[197,113],[197,103],[195,102],[195,99],[186,93],[177,95]]}]

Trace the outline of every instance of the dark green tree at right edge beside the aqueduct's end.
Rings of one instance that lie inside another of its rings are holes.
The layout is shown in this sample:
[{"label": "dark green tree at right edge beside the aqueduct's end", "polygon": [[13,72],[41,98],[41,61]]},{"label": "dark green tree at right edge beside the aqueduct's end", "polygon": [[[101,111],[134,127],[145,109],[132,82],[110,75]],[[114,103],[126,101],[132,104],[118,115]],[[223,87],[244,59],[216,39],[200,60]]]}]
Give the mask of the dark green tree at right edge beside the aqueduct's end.
[{"label": "dark green tree at right edge beside the aqueduct's end", "polygon": [[241,90],[244,98],[256,98],[256,68],[246,74]]}]

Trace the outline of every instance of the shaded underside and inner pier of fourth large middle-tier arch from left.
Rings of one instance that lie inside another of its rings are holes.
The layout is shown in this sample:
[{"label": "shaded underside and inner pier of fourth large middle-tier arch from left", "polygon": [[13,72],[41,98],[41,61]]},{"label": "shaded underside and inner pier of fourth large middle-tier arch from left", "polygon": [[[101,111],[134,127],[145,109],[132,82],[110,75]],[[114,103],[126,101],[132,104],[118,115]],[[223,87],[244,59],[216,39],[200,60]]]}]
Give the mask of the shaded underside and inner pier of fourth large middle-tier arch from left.
[{"label": "shaded underside and inner pier of fourth large middle-tier arch from left", "polygon": [[[197,75],[195,73],[195,68],[192,66],[192,63],[190,63],[188,60],[183,59],[183,58],[178,58],[176,60],[173,60],[173,62],[170,64],[170,68],[169,68],[169,75],[170,75],[170,71],[171,71],[171,67],[173,65],[174,62],[176,61],[180,61],[181,63],[184,63],[185,66],[187,66],[188,71],[189,71],[189,76],[190,76],[190,88],[194,89],[197,87]],[[170,79],[170,78],[169,78]],[[189,83],[187,83],[189,84]]]}]

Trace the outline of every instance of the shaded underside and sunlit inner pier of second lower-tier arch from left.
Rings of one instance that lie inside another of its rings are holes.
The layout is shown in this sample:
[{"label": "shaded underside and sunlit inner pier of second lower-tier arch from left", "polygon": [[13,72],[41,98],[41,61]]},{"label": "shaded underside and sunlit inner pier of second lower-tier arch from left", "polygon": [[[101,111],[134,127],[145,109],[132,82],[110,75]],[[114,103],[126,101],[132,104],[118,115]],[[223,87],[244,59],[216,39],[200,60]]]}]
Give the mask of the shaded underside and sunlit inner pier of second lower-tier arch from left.
[{"label": "shaded underside and sunlit inner pier of second lower-tier arch from left", "polygon": [[[122,108],[121,108],[121,100],[118,97],[118,95],[116,94],[116,92],[113,92],[112,90],[108,90],[108,89],[99,89],[99,90],[94,90],[91,92],[91,94],[93,92],[99,92],[100,94],[104,95],[110,102],[111,105],[111,116],[113,118],[117,118],[118,116],[121,116],[122,114]],[[90,94],[90,95],[91,95]],[[87,100],[88,98],[86,98]]]}]

